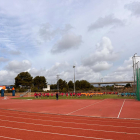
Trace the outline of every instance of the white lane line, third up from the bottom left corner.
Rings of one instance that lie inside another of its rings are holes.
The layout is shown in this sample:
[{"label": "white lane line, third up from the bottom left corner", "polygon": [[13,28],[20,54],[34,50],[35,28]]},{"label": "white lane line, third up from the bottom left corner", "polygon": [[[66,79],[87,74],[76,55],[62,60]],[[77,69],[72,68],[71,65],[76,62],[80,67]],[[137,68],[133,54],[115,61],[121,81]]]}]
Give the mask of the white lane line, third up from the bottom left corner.
[{"label": "white lane line, third up from the bottom left corner", "polygon": [[27,123],[27,122],[18,122],[18,121],[10,121],[10,120],[2,120],[0,119],[0,121],[3,122],[11,122],[11,123],[19,123],[19,124],[27,124],[27,125],[41,125],[41,126],[49,126],[49,127],[59,127],[59,128],[68,128],[68,129],[76,129],[76,130],[85,130],[85,131],[97,131],[97,132],[107,132],[107,133],[120,133],[120,134],[132,134],[132,135],[140,135],[140,133],[129,133],[129,132],[118,132],[118,131],[107,131],[107,130],[96,130],[96,129],[84,129],[84,128],[75,128],[75,127],[64,127],[64,126],[54,126],[54,125],[44,125],[44,124],[36,124],[36,123]]}]

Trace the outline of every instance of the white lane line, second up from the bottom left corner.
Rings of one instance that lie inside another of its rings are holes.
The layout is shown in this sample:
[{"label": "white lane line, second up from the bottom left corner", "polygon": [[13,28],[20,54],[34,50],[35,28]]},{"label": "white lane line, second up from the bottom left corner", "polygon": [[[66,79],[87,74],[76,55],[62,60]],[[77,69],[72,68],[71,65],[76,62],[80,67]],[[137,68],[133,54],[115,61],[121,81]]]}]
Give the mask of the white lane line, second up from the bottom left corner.
[{"label": "white lane line, second up from the bottom left corner", "polygon": [[1,128],[14,129],[14,130],[28,131],[28,132],[36,132],[36,133],[60,135],[60,136],[79,137],[79,138],[87,138],[87,139],[100,139],[100,140],[113,140],[113,139],[96,138],[96,137],[86,137],[86,136],[79,136],[79,135],[69,135],[69,134],[61,134],[61,133],[52,133],[52,132],[47,132],[47,131],[36,131],[36,130],[21,129],[21,128],[7,127],[7,126],[0,126],[0,127]]}]

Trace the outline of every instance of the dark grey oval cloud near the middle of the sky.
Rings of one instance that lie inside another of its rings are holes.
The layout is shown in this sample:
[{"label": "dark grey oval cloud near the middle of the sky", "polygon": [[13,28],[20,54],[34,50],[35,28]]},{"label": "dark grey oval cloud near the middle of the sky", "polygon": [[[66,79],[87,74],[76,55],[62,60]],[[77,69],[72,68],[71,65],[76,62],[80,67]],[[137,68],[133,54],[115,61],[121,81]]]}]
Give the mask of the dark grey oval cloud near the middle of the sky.
[{"label": "dark grey oval cloud near the middle of the sky", "polygon": [[52,53],[61,53],[69,49],[77,49],[82,43],[82,36],[77,36],[75,34],[66,34],[62,36],[52,48]]}]

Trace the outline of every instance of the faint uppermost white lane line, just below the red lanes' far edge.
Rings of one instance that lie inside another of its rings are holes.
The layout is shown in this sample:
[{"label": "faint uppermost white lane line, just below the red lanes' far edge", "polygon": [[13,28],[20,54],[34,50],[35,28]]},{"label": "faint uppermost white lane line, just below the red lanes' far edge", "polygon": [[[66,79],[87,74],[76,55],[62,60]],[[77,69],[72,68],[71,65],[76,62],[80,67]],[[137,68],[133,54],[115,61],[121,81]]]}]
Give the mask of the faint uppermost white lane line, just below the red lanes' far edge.
[{"label": "faint uppermost white lane line, just below the red lanes' far edge", "polygon": [[[4,112],[2,112],[2,113],[4,113]],[[135,123],[135,122],[120,122],[120,121],[118,121],[118,119],[115,121],[115,120],[113,120],[113,121],[108,121],[108,120],[103,120],[103,121],[101,121],[101,119],[106,119],[106,118],[100,118],[100,119],[93,119],[93,120],[88,120],[88,119],[75,119],[75,118],[62,118],[62,117],[52,117],[52,116],[38,116],[38,115],[30,115],[30,114],[19,114],[19,113],[9,113],[9,112],[6,112],[6,114],[17,114],[17,115],[19,115],[19,116],[23,116],[23,115],[25,115],[25,116],[37,116],[37,117],[43,117],[43,118],[55,118],[55,119],[57,119],[57,118],[61,118],[61,119],[67,119],[67,120],[70,120],[70,119],[73,119],[73,120],[78,120],[78,121],[80,121],[80,120],[83,120],[83,121],[89,121],[89,122],[97,122],[97,121],[99,121],[99,122],[105,122],[105,123],[108,123],[108,122],[113,122],[113,123],[128,123],[128,124],[140,124],[140,123]],[[44,115],[44,114],[43,114]],[[91,117],[92,118],[92,117]]]}]

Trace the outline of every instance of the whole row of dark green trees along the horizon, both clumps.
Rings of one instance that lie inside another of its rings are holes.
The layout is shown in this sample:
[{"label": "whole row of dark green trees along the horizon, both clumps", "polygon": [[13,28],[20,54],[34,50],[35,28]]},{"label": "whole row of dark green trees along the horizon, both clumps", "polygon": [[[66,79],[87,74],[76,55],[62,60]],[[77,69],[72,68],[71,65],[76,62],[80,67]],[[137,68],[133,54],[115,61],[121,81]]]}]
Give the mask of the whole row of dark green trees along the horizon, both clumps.
[{"label": "whole row of dark green trees along the horizon, both clumps", "polygon": [[[47,87],[46,78],[44,76],[32,77],[29,72],[21,72],[15,77],[15,88],[19,92],[24,92],[27,89],[31,89],[34,92],[42,91],[43,88]],[[77,80],[75,82],[76,90],[90,90],[93,89],[91,85],[86,80]],[[50,86],[51,90],[60,92],[73,91],[74,83],[73,81],[66,82],[65,80],[59,79],[56,84]]]}]

